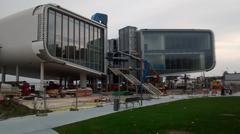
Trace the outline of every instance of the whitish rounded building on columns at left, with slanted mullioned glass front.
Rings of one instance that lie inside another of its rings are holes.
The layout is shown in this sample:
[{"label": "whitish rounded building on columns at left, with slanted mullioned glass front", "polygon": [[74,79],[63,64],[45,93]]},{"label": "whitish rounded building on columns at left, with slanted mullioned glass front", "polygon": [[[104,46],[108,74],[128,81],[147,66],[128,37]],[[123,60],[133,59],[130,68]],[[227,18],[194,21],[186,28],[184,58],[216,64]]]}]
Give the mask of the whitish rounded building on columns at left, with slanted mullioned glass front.
[{"label": "whitish rounded building on columns at left, with slanted mullioned glass front", "polygon": [[[79,80],[106,75],[107,26],[58,5],[40,5],[0,20],[5,75]],[[45,76],[45,77],[44,77]]]}]

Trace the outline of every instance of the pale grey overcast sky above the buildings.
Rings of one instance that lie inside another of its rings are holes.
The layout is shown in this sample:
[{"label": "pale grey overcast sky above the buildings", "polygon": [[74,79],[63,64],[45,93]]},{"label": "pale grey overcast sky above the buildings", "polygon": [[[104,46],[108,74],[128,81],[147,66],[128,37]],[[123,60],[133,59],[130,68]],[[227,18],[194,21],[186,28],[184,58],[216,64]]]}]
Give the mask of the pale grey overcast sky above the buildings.
[{"label": "pale grey overcast sky above the buildings", "polygon": [[39,4],[55,3],[90,18],[108,14],[108,38],[124,26],[157,29],[211,29],[215,34],[216,67],[240,71],[240,0],[1,0],[0,18]]}]

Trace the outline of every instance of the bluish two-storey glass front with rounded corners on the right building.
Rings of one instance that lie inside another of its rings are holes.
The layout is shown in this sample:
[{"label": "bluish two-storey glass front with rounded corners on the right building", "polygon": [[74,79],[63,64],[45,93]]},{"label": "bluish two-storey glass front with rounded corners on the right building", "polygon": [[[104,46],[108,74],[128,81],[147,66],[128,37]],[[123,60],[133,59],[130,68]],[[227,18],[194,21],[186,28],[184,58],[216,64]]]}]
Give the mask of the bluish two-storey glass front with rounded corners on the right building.
[{"label": "bluish two-storey glass front with rounded corners on the right building", "polygon": [[214,66],[210,31],[142,31],[144,59],[160,74],[209,70]]}]

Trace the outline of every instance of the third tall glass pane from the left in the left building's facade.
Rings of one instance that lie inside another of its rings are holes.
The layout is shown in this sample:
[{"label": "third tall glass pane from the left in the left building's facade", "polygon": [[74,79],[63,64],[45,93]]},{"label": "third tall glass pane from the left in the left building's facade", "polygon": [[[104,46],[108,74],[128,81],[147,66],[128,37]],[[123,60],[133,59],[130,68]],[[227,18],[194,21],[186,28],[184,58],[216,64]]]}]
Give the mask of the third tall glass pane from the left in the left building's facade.
[{"label": "third tall glass pane from the left in the left building's facade", "polygon": [[68,16],[63,15],[63,40],[62,55],[64,60],[68,60]]}]

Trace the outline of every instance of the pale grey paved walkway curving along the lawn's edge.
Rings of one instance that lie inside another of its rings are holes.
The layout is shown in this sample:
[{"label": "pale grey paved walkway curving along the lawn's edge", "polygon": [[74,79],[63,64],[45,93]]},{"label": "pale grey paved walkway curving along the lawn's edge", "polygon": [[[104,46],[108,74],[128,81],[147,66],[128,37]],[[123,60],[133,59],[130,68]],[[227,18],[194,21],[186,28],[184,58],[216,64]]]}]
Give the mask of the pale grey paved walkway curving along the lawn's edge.
[{"label": "pale grey paved walkway curving along the lawn's edge", "polygon": [[[199,96],[195,96],[199,97]],[[149,106],[164,102],[176,101],[189,98],[188,95],[170,95],[163,96],[160,99],[151,101],[143,101],[143,106]],[[131,106],[129,104],[129,106]],[[135,107],[139,107],[136,105]],[[125,109],[125,105],[121,105],[121,110]],[[52,128],[87,120],[90,118],[114,113],[113,105],[107,104],[104,107],[91,109],[81,109],[79,111],[64,111],[49,113],[46,117],[37,117],[34,115],[11,118],[0,121],[1,134],[57,134]]]}]

